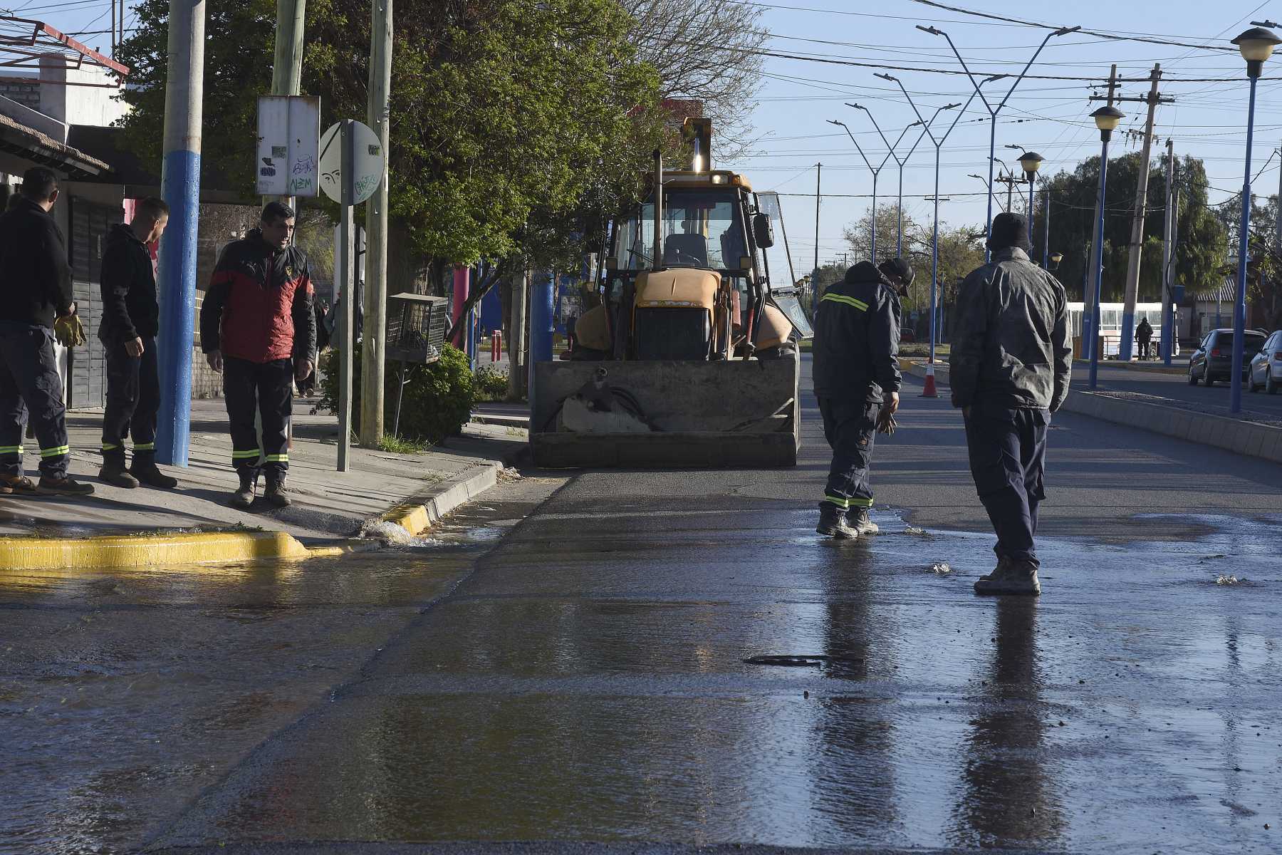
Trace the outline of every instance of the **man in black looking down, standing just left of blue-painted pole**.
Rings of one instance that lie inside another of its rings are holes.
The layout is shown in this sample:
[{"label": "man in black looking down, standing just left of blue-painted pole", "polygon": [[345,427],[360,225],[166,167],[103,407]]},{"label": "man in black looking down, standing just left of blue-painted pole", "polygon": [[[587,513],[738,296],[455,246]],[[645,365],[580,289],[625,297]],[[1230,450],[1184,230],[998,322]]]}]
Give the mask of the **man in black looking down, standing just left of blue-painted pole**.
[{"label": "man in black looking down, standing just left of blue-painted pole", "polygon": [[[99,477],[117,487],[171,490],[178,481],[156,467],[156,411],[160,376],[156,368],[155,268],[147,244],[160,240],[169,223],[169,205],[149,197],[133,219],[117,223],[103,250],[103,322],[97,337],[106,353],[106,411],[103,414],[103,469]],[[124,438],[133,435],[133,465],[124,468]]]}]

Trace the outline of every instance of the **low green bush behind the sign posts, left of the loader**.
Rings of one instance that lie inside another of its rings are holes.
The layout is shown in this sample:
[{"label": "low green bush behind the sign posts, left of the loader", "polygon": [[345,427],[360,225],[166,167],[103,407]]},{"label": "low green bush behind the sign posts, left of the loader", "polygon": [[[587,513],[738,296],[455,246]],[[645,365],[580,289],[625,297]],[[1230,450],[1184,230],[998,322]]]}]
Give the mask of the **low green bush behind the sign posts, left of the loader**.
[{"label": "low green bush behind the sign posts, left of the loader", "polygon": [[[351,372],[351,427],[360,429],[360,346],[353,349]],[[331,350],[320,358],[324,379],[320,383],[319,406],[338,411],[338,351]],[[391,432],[396,419],[396,390],[400,383],[400,364],[387,363],[383,388],[383,423]],[[441,358],[429,365],[405,368],[405,391],[401,400],[399,437],[409,442],[438,445],[449,436],[456,436],[472,415],[476,400],[476,382],[467,354],[445,345]]]}]

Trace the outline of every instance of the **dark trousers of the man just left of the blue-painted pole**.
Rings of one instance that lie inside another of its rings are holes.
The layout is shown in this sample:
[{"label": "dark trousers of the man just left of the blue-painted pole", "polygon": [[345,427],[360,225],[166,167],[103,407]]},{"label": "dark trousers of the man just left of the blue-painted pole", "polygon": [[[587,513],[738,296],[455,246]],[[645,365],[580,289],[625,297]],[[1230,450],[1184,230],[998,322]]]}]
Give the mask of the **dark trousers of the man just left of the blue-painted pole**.
[{"label": "dark trousers of the man just left of the blue-painted pole", "polygon": [[160,376],[156,340],[142,340],[142,355],[131,356],[123,344],[108,345],[106,410],[103,413],[103,460],[124,464],[124,440],[133,436],[133,459],[155,458]]}]

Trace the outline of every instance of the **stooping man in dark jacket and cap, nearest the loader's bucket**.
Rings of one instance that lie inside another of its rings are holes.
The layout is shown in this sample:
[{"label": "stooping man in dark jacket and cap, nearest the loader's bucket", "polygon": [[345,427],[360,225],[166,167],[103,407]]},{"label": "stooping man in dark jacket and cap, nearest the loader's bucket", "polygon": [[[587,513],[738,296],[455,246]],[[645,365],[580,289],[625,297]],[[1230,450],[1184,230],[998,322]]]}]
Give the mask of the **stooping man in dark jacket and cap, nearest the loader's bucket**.
[{"label": "stooping man in dark jacket and cap, nearest the loader's bucket", "polygon": [[882,413],[899,409],[899,288],[913,268],[892,259],[860,261],[819,299],[814,322],[814,394],[832,465],[815,531],[838,538],[870,535],[868,470]]}]

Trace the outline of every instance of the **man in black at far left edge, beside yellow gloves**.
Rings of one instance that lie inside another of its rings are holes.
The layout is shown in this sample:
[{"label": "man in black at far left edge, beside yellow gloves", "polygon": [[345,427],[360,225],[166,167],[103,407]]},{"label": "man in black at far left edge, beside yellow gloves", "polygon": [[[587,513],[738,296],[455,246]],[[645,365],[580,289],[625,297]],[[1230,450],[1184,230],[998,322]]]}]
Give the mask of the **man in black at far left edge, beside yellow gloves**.
[{"label": "man in black at far left edge, beside yellow gloves", "polygon": [[[67,476],[71,446],[54,320],[76,311],[67,242],[49,214],[58,177],[44,167],[22,177],[21,199],[0,215],[0,494],[85,496],[94,486]],[[22,474],[27,417],[40,442],[40,485]]]}]

